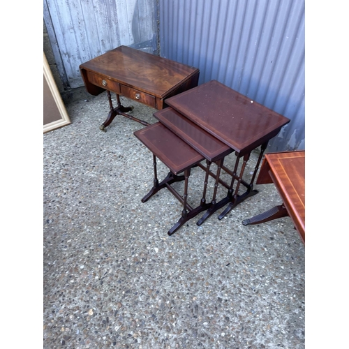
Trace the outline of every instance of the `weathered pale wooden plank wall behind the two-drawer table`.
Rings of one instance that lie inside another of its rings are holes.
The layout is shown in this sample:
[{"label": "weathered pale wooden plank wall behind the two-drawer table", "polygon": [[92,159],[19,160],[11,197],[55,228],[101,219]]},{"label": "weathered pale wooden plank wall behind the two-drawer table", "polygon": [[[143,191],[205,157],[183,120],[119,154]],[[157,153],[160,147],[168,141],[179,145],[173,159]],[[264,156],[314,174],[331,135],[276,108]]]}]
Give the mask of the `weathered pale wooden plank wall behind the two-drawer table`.
[{"label": "weathered pale wooden plank wall behind the two-drawer table", "polygon": [[[156,0],[44,0],[44,21],[59,74],[83,86],[79,66],[120,45],[144,47],[156,36]],[[142,43],[144,43],[142,45]],[[148,51],[153,53],[153,48]]]}]

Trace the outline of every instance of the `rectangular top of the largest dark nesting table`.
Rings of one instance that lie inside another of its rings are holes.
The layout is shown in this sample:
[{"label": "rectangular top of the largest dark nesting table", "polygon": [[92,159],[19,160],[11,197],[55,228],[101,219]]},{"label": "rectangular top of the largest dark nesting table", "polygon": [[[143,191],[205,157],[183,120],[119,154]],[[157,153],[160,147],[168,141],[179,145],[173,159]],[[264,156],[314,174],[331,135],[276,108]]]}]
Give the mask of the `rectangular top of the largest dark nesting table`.
[{"label": "rectangular top of the largest dark nesting table", "polygon": [[290,122],[216,80],[167,98],[165,103],[241,155],[273,138]]}]

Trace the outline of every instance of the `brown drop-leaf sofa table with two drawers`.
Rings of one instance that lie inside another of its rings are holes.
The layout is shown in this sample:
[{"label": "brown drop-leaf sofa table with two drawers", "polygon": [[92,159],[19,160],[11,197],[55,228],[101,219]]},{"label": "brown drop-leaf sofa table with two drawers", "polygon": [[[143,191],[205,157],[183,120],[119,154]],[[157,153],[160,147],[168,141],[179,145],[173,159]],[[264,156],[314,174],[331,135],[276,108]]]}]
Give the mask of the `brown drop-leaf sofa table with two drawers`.
[{"label": "brown drop-leaf sofa table with two drawers", "polygon": [[[97,96],[107,90],[110,112],[100,126],[105,131],[117,115],[149,125],[127,114],[133,107],[121,105],[120,95],[161,110],[167,106],[165,98],[198,86],[200,71],[170,59],[120,46],[81,64],[80,73],[89,94]],[[110,92],[117,95],[117,107],[112,105]]]}]

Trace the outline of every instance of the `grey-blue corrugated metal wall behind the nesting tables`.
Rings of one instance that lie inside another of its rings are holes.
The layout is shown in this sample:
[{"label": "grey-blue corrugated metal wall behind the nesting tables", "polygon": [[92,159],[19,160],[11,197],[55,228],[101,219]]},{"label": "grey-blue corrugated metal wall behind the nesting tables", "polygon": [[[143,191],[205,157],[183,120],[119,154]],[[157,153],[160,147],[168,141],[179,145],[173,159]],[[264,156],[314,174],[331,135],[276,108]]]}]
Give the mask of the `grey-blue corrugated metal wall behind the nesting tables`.
[{"label": "grey-blue corrugated metal wall behind the nesting tables", "polygon": [[305,149],[304,0],[159,0],[161,56],[291,119],[267,151]]}]

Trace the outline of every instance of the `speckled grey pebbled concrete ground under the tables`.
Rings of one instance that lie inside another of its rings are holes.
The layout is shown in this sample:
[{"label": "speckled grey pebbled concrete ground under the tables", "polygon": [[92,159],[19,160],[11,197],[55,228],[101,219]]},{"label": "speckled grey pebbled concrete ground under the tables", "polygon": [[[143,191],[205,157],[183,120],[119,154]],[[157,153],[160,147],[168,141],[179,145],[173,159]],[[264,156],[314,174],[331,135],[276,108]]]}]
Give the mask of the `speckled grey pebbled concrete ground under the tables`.
[{"label": "speckled grey pebbled concrete ground under the tables", "polygon": [[[304,246],[290,218],[242,225],[279,205],[276,189],[255,186],[222,221],[223,209],[169,237],[181,204],[166,190],[141,202],[153,183],[133,135],[144,126],[119,117],[100,131],[105,93],[69,96],[66,108],[72,124],[43,135],[43,348],[304,348]],[[167,172],[158,163],[159,179]],[[202,181],[194,168],[193,206]]]}]

